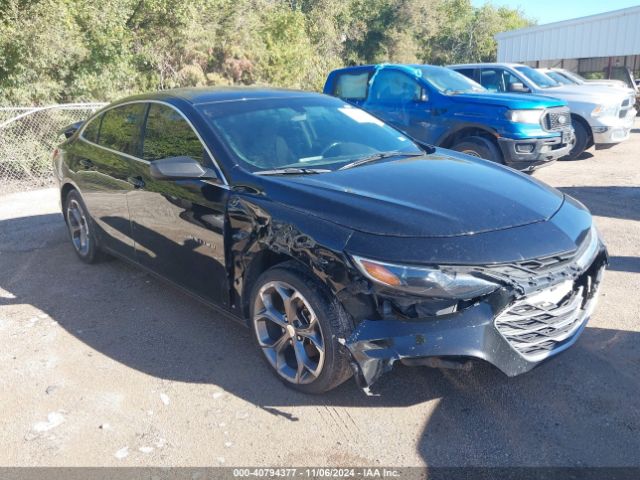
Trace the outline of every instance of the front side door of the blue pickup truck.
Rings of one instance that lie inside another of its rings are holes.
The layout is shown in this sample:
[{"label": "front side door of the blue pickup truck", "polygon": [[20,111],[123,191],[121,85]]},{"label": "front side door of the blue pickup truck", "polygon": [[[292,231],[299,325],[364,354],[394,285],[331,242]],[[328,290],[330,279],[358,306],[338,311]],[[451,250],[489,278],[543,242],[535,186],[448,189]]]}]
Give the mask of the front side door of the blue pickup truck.
[{"label": "front side door of the blue pickup truck", "polygon": [[433,102],[426,87],[404,72],[379,70],[362,106],[417,140],[435,141],[438,126],[432,120]]}]

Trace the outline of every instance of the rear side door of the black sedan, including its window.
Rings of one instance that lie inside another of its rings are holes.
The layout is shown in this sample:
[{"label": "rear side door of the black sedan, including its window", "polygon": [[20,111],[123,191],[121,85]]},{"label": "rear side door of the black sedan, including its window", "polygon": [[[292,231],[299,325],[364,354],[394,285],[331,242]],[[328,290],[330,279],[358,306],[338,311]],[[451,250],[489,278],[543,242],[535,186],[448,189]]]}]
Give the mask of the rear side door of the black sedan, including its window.
[{"label": "rear side door of the black sedan, including its window", "polygon": [[139,155],[144,108],[132,103],[105,111],[83,130],[74,152],[76,183],[102,243],[128,257],[133,239],[127,193],[133,189],[130,172]]}]

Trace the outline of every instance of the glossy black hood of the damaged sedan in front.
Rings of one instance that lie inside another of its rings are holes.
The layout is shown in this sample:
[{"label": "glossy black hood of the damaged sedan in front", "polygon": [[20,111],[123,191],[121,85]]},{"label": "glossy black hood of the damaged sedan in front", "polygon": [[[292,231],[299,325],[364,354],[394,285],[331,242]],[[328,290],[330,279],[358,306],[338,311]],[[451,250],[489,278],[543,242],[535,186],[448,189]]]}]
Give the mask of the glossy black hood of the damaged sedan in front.
[{"label": "glossy black hood of the damaged sedan in front", "polygon": [[437,149],[318,175],[265,177],[267,195],[365,233],[453,237],[548,220],[563,194],[500,165]]}]

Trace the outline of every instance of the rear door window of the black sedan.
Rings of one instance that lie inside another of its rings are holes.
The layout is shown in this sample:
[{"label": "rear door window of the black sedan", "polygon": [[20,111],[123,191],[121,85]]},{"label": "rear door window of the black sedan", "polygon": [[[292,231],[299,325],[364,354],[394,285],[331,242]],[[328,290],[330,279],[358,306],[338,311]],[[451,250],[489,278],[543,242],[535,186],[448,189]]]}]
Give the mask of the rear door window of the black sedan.
[{"label": "rear door window of the black sedan", "polygon": [[140,125],[144,104],[134,103],[107,110],[102,115],[98,145],[139,156]]}]

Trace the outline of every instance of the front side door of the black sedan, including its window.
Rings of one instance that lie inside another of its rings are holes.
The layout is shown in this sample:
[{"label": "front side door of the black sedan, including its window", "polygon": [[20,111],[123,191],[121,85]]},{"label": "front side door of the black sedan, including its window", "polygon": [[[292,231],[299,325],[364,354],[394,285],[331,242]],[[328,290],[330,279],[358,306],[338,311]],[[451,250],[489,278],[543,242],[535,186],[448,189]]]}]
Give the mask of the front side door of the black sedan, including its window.
[{"label": "front side door of the black sedan, including its window", "polygon": [[199,136],[173,106],[149,103],[142,161],[128,195],[137,260],[207,300],[227,304],[224,256],[228,189],[215,180],[156,180],[151,162],[189,156],[214,168]]}]

